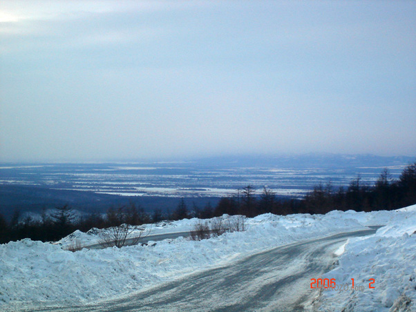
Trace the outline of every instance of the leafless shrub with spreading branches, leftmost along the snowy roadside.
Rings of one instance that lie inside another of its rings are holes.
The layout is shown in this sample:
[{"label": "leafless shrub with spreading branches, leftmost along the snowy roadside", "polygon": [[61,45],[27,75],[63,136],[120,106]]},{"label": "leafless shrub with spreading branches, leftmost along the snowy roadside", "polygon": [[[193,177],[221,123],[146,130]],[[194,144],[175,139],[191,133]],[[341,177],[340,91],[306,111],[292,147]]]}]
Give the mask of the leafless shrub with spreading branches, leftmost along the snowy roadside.
[{"label": "leafless shrub with spreading branches, leftmost along the snowy roadside", "polygon": [[121,248],[126,245],[138,244],[140,238],[149,235],[150,231],[143,235],[146,231],[145,226],[132,226],[130,224],[121,224],[111,228],[105,228],[100,233],[100,245],[105,247]]}]

